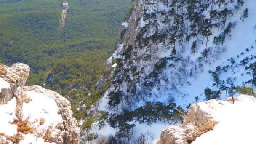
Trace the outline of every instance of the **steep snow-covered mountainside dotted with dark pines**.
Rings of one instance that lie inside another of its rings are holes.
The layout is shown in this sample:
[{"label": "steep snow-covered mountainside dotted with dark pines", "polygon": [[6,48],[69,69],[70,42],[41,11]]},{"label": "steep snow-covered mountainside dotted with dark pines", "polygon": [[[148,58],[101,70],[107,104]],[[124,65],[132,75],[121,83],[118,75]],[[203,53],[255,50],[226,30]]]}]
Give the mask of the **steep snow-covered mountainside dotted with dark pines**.
[{"label": "steep snow-covered mountainside dotted with dark pines", "polygon": [[[109,119],[96,119],[83,133],[82,143],[95,143],[97,140],[87,141],[92,134],[95,139],[112,135],[135,143],[141,133],[150,133],[152,139],[147,142],[155,143],[163,128],[177,121],[161,115],[149,123],[144,117],[141,120],[134,116],[139,108],[148,103],[159,102],[166,107],[175,103],[169,109],[174,115],[178,106],[186,109],[189,104],[205,100],[206,88],[220,91],[218,98],[226,99],[237,86],[252,86],[248,67],[256,61],[256,1],[193,2],[139,0],[135,5],[130,18],[122,24],[115,53],[106,61],[112,72],[101,78],[101,83],[111,83],[88,112],[93,115],[105,111],[109,117],[133,114],[116,122],[115,127]],[[219,83],[208,71],[218,73]],[[129,138],[120,136],[124,128],[120,123],[134,124]]]}]

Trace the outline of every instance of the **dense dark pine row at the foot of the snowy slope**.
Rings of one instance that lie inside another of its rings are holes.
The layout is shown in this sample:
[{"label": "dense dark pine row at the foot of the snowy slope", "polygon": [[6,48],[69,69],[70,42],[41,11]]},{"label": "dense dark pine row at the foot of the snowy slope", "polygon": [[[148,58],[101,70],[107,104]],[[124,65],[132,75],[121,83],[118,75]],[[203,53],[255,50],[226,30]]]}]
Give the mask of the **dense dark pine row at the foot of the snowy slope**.
[{"label": "dense dark pine row at the foot of the snowy slope", "polygon": [[176,107],[174,102],[163,104],[161,102],[145,102],[134,111],[123,109],[122,114],[109,114],[108,123],[112,128],[117,128],[116,138],[122,142],[131,140],[134,124],[130,122],[147,123],[151,125],[157,121],[174,123],[181,121],[181,113],[185,111]]}]

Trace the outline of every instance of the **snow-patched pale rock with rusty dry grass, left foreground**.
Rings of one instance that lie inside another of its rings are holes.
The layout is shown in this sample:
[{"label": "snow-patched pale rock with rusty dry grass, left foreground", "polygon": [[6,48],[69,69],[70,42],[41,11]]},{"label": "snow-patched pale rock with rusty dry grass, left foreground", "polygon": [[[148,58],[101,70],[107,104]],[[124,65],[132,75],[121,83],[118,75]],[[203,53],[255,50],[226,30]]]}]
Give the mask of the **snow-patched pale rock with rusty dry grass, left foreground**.
[{"label": "snow-patched pale rock with rusty dry grass, left foreground", "polygon": [[29,66],[0,64],[0,143],[78,144],[70,102],[40,86],[24,86]]}]

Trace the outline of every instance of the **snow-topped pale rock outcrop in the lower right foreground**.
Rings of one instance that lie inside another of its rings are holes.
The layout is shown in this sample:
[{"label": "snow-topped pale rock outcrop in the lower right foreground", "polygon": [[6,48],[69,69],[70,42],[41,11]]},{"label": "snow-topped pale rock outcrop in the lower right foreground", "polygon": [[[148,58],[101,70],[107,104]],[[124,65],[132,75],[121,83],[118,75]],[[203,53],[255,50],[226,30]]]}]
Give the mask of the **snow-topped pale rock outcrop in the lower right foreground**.
[{"label": "snow-topped pale rock outcrop in the lower right foreground", "polygon": [[[232,98],[193,104],[181,128],[171,125],[164,129],[157,144],[254,144],[255,109],[256,98],[246,95],[235,98],[235,104]],[[216,122],[213,130],[197,136],[209,122]]]}]

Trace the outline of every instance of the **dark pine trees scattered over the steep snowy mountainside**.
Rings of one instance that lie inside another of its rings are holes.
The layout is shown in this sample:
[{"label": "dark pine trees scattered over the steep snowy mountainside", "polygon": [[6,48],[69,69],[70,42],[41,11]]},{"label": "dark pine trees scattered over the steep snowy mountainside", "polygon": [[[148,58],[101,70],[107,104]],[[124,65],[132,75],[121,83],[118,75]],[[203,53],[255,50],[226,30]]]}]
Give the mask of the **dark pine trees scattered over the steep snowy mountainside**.
[{"label": "dark pine trees scattered over the steep snowy mountainside", "polygon": [[[120,131],[118,137],[126,137],[129,125],[125,123],[151,124],[175,118],[176,104],[168,103],[165,98],[174,95],[177,103],[184,104],[179,94],[182,97],[191,95],[183,88],[197,81],[200,72],[213,67],[225,48],[230,50],[225,41],[233,39],[231,31],[241,22],[233,21],[240,16],[229,19],[235,11],[234,2],[237,0],[141,1],[141,7],[130,19],[131,29],[127,29],[120,43],[122,54],[117,59],[117,66],[113,66],[113,87],[108,91],[110,111],[117,113],[109,117],[109,123]],[[210,16],[205,14],[208,11]],[[213,44],[208,41],[212,39]],[[238,61],[244,57],[240,55]],[[208,100],[219,99],[221,92],[228,96],[235,91],[231,79],[236,75],[229,75],[230,80],[225,81],[227,77],[222,73],[233,74],[235,67],[247,64],[239,65],[234,60],[229,59],[231,64],[227,61],[227,65],[209,71],[212,82],[205,91],[198,88],[200,92],[193,95],[197,96],[195,101],[202,100],[201,94]],[[155,102],[158,98],[161,102]],[[123,105],[120,104],[122,100]]]}]

